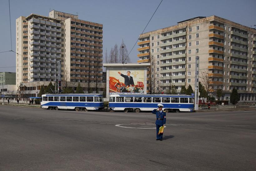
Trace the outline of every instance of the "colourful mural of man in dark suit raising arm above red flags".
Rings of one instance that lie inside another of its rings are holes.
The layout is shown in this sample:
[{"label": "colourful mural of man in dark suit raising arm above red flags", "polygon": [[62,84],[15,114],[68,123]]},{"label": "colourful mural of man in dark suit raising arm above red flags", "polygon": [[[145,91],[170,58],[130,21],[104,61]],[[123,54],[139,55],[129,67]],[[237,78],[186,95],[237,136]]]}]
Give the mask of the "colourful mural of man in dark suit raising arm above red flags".
[{"label": "colourful mural of man in dark suit raising arm above red flags", "polygon": [[110,70],[109,94],[144,94],[144,70]]}]

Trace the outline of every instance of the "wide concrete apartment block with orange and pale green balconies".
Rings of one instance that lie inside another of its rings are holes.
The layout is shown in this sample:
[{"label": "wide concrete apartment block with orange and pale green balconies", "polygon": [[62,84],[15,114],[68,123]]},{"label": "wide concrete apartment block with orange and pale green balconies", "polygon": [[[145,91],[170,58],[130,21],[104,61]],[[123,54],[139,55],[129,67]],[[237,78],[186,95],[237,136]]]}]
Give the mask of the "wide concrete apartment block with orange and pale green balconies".
[{"label": "wide concrete apartment block with orange and pale green balconies", "polygon": [[[151,92],[167,92],[175,85],[194,89],[195,57],[199,81],[210,90],[223,90],[228,100],[238,90],[240,102],[256,100],[256,30],[218,16],[195,17],[177,25],[140,35],[138,63],[150,62]],[[150,90],[148,90],[150,92]]]}]

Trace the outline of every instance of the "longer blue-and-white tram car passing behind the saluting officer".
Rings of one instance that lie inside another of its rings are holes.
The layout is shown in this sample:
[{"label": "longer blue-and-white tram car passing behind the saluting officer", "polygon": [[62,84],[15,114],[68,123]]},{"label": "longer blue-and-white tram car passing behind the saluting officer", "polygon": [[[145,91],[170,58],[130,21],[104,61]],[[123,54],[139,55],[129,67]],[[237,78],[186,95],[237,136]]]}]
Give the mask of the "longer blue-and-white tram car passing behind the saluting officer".
[{"label": "longer blue-and-white tram car passing behind the saluting officer", "polygon": [[157,104],[163,104],[165,112],[192,112],[194,98],[190,95],[110,95],[111,110],[152,111]]}]

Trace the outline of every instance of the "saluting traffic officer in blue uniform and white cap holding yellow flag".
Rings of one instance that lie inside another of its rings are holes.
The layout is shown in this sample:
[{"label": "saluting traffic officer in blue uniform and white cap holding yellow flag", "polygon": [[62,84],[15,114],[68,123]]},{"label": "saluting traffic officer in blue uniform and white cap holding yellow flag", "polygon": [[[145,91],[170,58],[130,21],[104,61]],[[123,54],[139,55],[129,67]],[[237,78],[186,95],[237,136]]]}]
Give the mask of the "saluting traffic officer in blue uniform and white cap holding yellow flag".
[{"label": "saluting traffic officer in blue uniform and white cap holding yellow flag", "polygon": [[159,128],[161,126],[165,126],[165,122],[166,122],[166,113],[165,111],[163,111],[163,107],[164,105],[162,104],[157,104],[158,108],[154,109],[152,111],[153,114],[156,115],[156,121],[155,121],[155,125],[156,125],[156,140],[160,140],[162,141],[163,139],[163,133],[159,133]]}]

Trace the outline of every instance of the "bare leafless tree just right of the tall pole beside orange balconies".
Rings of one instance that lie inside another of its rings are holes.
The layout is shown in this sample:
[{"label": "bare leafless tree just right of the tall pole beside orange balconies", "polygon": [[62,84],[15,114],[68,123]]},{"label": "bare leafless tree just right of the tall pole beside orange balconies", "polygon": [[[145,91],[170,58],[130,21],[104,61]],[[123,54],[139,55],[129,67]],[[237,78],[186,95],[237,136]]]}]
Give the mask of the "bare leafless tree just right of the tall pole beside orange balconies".
[{"label": "bare leafless tree just right of the tall pole beside orange balconies", "polygon": [[206,72],[201,71],[201,76],[199,77],[201,78],[202,85],[204,86],[207,92],[207,100],[209,100],[209,98],[212,97],[214,93],[214,87],[212,86],[213,80],[210,79],[207,71]]}]

